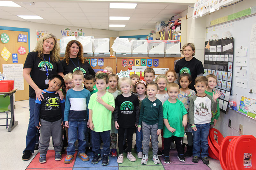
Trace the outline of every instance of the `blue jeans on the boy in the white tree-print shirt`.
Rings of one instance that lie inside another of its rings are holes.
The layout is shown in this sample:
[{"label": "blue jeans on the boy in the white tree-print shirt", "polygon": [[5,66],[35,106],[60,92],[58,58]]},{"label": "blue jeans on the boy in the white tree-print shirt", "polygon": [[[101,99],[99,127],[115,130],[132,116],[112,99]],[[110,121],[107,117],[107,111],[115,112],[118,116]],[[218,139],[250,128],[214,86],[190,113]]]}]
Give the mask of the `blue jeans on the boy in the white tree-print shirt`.
[{"label": "blue jeans on the boy in the white tree-print shirt", "polygon": [[210,123],[205,124],[195,124],[196,131],[193,130],[193,155],[200,157],[208,157],[208,140],[207,137],[209,135]]}]

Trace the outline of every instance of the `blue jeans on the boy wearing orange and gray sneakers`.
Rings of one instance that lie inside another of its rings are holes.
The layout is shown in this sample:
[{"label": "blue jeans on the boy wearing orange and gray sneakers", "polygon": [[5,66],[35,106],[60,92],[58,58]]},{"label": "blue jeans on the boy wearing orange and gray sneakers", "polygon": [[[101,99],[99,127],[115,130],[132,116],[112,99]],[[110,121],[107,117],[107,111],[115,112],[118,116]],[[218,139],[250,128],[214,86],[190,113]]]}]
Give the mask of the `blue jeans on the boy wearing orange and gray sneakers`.
[{"label": "blue jeans on the boy wearing orange and gray sneakers", "polygon": [[[75,143],[78,140],[78,153],[85,153],[85,134],[87,133],[87,120],[85,121],[68,121],[68,147],[67,154],[75,154]],[[78,137],[77,137],[78,134]]]}]

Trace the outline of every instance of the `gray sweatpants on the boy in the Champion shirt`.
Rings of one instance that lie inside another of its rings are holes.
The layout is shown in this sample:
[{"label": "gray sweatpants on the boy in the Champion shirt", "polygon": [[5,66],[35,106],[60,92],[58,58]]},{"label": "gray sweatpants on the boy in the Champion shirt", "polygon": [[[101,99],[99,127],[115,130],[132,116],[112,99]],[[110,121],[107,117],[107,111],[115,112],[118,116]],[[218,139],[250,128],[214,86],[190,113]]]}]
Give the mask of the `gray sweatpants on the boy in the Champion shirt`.
[{"label": "gray sweatpants on the boy in the Champion shirt", "polygon": [[40,140],[39,140],[39,151],[40,153],[47,153],[50,145],[50,137],[52,136],[53,147],[57,152],[62,150],[62,126],[61,119],[55,122],[48,122],[40,119]]}]

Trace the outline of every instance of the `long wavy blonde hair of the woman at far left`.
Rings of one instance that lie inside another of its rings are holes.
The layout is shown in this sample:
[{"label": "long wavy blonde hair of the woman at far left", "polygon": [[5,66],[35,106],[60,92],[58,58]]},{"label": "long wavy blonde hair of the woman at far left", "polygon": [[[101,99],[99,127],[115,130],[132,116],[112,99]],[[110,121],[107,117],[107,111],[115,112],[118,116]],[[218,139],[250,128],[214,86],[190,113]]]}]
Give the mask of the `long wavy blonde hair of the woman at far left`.
[{"label": "long wavy blonde hair of the woman at far left", "polygon": [[50,52],[51,53],[51,61],[53,63],[57,63],[60,60],[60,45],[57,42],[57,37],[55,35],[53,35],[52,33],[44,34],[44,36],[37,41],[36,48],[33,51],[38,52],[37,56],[43,60],[44,59],[44,54],[43,54],[44,40],[49,39],[49,38],[53,38],[55,41],[54,47],[53,47],[52,51]]}]

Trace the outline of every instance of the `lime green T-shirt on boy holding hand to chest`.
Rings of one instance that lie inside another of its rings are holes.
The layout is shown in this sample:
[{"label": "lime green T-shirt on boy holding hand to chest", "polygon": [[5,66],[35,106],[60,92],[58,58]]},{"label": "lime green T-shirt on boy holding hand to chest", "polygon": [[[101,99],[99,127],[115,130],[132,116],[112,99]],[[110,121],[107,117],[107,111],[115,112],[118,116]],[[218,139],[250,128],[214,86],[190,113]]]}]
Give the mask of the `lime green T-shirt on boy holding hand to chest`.
[{"label": "lime green T-shirt on boy holding hand to chest", "polygon": [[[103,132],[111,129],[112,112],[97,101],[97,93],[90,97],[88,109],[92,110],[92,122],[95,132]],[[115,100],[111,93],[106,92],[101,99],[115,108]]]}]

